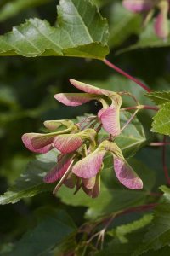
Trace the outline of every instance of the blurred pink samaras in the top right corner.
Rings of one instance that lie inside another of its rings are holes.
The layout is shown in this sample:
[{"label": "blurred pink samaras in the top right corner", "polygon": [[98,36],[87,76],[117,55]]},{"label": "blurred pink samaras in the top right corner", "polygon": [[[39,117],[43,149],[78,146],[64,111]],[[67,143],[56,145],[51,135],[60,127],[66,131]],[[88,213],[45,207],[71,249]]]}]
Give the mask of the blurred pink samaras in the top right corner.
[{"label": "blurred pink samaras in the top right corner", "polygon": [[168,12],[170,0],[123,0],[123,6],[134,13],[144,15],[144,24],[154,15],[154,9],[158,9],[158,15],[155,20],[155,32],[159,38],[167,38],[168,30]]}]

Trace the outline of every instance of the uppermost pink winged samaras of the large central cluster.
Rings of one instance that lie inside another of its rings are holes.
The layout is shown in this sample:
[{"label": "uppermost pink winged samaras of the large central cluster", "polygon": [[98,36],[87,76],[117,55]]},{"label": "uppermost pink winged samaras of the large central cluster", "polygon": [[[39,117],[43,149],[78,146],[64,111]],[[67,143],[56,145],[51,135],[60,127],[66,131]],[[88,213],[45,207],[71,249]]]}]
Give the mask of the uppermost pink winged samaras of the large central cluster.
[{"label": "uppermost pink winged samaras of the large central cluster", "polygon": [[[98,118],[103,128],[114,137],[119,135],[121,133],[119,113],[122,105],[122,97],[111,90],[99,89],[98,87],[74,79],[70,81],[78,90],[82,90],[85,93],[59,93],[54,98],[66,106],[71,107],[77,107],[92,100],[101,102],[103,108],[99,110]],[[108,102],[111,102],[111,106]]]}]

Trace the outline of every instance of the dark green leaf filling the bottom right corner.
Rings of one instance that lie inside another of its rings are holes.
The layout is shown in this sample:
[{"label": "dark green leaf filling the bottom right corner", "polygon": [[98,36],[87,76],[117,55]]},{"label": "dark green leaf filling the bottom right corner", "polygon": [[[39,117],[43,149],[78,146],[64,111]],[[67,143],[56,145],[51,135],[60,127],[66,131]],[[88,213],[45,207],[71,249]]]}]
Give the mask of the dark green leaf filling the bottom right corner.
[{"label": "dark green leaf filling the bottom right corner", "polygon": [[170,245],[170,189],[161,186],[161,190],[164,192],[161,203],[155,209],[153,221],[144,236],[143,244],[134,255]]}]

